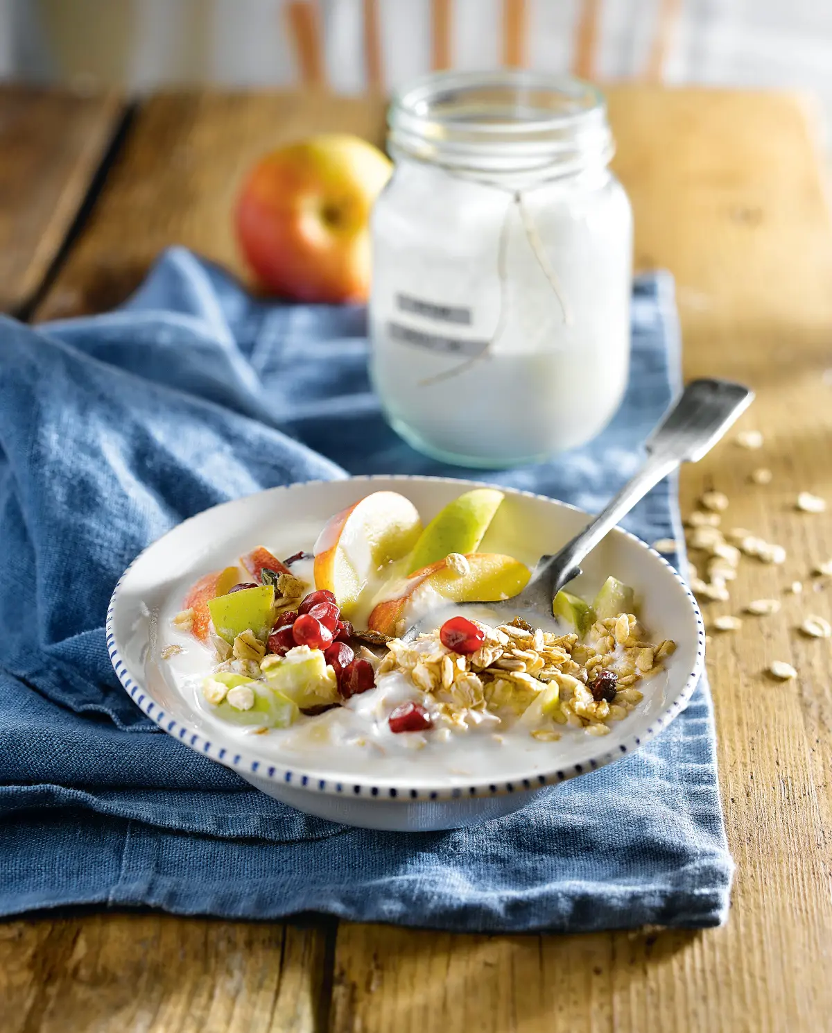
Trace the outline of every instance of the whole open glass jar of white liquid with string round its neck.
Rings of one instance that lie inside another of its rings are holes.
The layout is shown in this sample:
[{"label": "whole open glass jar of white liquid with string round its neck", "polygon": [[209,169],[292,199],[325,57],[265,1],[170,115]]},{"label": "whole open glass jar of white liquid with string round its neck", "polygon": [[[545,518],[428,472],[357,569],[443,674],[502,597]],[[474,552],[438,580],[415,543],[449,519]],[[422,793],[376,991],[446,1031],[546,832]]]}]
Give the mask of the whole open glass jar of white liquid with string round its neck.
[{"label": "whole open glass jar of white liquid with string round its neck", "polygon": [[632,214],[593,86],[440,72],[388,115],[373,212],[371,375],[392,427],[462,466],[540,462],[615,412]]}]

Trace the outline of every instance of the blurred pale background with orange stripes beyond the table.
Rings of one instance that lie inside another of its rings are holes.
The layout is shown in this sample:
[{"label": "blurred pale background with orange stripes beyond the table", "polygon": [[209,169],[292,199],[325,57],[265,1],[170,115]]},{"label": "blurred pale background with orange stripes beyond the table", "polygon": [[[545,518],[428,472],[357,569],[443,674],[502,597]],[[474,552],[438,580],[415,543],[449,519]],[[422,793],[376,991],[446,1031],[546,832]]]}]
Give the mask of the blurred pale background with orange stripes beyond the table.
[{"label": "blurred pale background with orange stripes beyond the table", "polygon": [[0,75],[79,89],[326,84],[431,67],[787,87],[832,121],[832,0],[0,0]]}]

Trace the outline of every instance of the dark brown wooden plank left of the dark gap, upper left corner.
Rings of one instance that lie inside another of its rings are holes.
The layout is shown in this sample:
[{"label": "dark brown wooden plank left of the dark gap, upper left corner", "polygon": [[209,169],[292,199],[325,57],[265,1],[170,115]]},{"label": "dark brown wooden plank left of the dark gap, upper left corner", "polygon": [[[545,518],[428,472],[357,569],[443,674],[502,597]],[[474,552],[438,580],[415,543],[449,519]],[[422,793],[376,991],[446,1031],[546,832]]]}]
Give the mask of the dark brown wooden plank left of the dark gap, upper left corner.
[{"label": "dark brown wooden plank left of the dark gap, upper left corner", "polygon": [[121,122],[115,96],[0,86],[0,310],[32,299]]}]

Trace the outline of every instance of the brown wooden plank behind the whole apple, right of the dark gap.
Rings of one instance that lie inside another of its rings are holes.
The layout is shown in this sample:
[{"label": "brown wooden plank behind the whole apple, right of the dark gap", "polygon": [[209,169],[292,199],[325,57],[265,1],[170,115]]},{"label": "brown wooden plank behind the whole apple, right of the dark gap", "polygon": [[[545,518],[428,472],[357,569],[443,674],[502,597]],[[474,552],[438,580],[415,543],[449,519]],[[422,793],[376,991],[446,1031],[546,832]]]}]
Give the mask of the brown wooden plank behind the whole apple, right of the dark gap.
[{"label": "brown wooden plank behind the whole apple, right of the dark gap", "polygon": [[248,275],[231,213],[255,159],[312,132],[381,144],[384,103],[328,94],[170,94],[149,100],[37,317],[111,308],[170,244]]}]

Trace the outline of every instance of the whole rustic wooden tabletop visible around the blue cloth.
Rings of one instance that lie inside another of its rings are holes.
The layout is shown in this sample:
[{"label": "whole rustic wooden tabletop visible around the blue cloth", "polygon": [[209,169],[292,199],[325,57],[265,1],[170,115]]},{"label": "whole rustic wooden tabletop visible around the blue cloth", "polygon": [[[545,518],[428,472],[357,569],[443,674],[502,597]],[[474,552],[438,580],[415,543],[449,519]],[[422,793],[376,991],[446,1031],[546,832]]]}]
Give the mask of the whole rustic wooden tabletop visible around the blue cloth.
[{"label": "whole rustic wooden tabletop visible around the blue cloth", "polygon": [[[729,526],[789,554],[782,567],[745,563],[732,602],[711,607],[783,602],[779,617],[747,619],[709,649],[737,862],[728,925],[487,937],[319,918],[46,915],[0,924],[7,1033],[830,1028],[832,649],[795,626],[805,613],[832,619],[832,590],[810,576],[832,558],[832,523],[794,509],[802,490],[832,502],[823,165],[795,97],[628,86],[609,95],[637,265],[676,276],[685,375],[734,377],[758,392],[743,426],[764,433],[764,448],[725,443],[686,470],[683,508],[703,487],[718,488],[731,499]],[[244,170],[270,145],[325,129],[380,142],[383,104],[196,94],[153,97],[128,112],[113,98],[6,90],[3,304],[36,319],[100,310],[171,243],[238,270],[228,210]],[[757,466],[773,471],[770,486],[748,483]],[[795,580],[803,595],[783,594]],[[797,681],[767,680],[773,659],[792,662]]]}]

